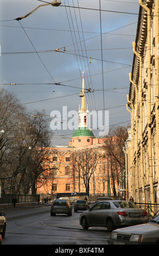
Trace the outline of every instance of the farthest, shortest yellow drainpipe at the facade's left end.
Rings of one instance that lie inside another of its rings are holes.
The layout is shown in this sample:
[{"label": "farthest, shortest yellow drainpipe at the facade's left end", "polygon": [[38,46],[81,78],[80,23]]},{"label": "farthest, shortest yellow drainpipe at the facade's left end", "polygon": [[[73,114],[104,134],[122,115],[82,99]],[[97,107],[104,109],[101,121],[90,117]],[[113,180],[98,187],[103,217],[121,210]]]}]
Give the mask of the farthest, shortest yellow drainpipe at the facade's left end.
[{"label": "farthest, shortest yellow drainpipe at the facade's left end", "polygon": [[[127,95],[127,102],[131,103],[129,100],[129,95]],[[131,114],[131,161],[132,161],[132,197],[135,197],[135,190],[134,190],[134,161],[133,161],[133,155],[134,155],[134,121],[133,121],[133,104],[132,106],[132,112],[128,108],[128,104],[126,104],[127,111]]]}]

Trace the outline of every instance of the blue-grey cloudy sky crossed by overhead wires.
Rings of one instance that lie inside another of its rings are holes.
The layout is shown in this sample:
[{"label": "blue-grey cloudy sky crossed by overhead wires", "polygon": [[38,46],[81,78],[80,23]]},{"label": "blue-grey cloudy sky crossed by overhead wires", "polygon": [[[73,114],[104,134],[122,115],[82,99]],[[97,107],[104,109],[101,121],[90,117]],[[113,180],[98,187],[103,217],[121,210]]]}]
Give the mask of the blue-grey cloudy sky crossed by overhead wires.
[{"label": "blue-grey cloudy sky crossed by overhead wires", "polygon": [[45,109],[46,115],[59,117],[50,118],[52,145],[69,144],[77,129],[73,120],[81,104],[83,71],[85,102],[97,114],[94,136],[100,136],[106,118],[109,129],[129,125],[125,104],[138,0],[62,0],[59,7],[42,6],[15,20],[41,4],[0,2],[0,87],[13,92],[29,112]]}]

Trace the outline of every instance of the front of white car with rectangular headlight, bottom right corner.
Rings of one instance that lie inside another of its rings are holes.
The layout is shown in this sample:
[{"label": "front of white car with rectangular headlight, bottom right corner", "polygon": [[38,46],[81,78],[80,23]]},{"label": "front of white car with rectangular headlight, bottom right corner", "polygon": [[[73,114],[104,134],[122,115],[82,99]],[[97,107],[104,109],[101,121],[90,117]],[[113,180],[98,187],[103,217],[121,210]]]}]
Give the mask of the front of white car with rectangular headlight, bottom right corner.
[{"label": "front of white car with rectangular headlight, bottom right corner", "polygon": [[159,245],[159,215],[146,224],[112,231],[109,245]]}]

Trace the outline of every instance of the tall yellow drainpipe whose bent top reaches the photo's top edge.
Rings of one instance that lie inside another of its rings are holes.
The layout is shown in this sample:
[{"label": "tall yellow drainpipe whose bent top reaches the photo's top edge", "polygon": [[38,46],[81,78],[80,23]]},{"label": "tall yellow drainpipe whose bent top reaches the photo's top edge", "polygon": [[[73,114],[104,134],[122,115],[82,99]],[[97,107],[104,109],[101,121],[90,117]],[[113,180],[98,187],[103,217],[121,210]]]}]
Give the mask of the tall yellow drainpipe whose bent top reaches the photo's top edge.
[{"label": "tall yellow drainpipe whose bent top reaches the photo's top edge", "polygon": [[150,9],[139,0],[139,4],[143,7],[148,14],[147,20],[147,63],[148,63],[148,153],[149,153],[149,178],[150,178],[150,193],[151,193],[151,203],[154,204],[154,182],[152,173],[152,141],[151,141],[151,14]]}]

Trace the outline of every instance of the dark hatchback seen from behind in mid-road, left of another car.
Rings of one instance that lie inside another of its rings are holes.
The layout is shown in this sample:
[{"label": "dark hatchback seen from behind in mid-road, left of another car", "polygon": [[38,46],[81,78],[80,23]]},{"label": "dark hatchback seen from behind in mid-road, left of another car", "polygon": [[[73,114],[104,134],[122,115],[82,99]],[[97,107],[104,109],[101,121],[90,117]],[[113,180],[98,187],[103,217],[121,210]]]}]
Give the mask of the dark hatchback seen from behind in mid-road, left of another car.
[{"label": "dark hatchback seen from behind in mid-road, left of another car", "polygon": [[51,205],[51,216],[56,214],[72,215],[72,206],[67,199],[56,199]]}]

